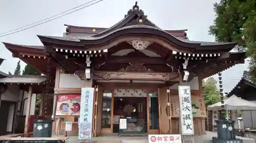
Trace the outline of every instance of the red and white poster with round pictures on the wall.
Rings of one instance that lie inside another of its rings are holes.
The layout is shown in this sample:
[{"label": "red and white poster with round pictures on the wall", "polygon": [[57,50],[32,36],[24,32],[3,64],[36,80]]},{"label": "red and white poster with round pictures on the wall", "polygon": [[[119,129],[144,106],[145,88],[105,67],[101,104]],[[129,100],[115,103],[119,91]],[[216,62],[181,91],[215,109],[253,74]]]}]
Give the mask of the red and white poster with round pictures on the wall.
[{"label": "red and white poster with round pictures on the wall", "polygon": [[56,116],[79,116],[81,95],[58,95]]}]

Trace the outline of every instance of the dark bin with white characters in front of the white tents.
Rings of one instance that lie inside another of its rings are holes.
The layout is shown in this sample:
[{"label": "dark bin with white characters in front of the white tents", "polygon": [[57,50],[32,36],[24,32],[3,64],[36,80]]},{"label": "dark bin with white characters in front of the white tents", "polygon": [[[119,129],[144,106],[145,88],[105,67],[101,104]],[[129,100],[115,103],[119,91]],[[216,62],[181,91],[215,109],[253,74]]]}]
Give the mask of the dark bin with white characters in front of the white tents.
[{"label": "dark bin with white characters in front of the white tents", "polygon": [[235,139],[234,122],[230,120],[216,120],[218,138]]}]

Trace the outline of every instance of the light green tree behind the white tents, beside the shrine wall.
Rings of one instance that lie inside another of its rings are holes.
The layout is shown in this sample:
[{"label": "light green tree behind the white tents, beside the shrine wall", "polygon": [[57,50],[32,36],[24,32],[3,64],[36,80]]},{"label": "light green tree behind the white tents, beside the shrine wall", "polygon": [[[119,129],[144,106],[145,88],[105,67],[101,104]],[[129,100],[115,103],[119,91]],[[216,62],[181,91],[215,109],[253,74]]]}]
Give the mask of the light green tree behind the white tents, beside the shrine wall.
[{"label": "light green tree behind the white tents, beside the shrine wall", "polygon": [[216,86],[216,80],[210,77],[203,83],[203,96],[205,106],[220,102],[220,94]]}]

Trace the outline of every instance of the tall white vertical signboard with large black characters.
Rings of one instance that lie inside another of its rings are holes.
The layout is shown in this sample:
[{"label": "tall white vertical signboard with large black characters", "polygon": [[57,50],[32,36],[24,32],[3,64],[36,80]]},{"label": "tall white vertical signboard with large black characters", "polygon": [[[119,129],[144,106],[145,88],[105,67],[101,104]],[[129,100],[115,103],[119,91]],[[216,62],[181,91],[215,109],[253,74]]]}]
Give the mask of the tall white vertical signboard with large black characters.
[{"label": "tall white vertical signboard with large black characters", "polygon": [[191,95],[189,86],[179,86],[180,99],[180,124],[182,134],[193,135],[193,108],[191,105]]}]

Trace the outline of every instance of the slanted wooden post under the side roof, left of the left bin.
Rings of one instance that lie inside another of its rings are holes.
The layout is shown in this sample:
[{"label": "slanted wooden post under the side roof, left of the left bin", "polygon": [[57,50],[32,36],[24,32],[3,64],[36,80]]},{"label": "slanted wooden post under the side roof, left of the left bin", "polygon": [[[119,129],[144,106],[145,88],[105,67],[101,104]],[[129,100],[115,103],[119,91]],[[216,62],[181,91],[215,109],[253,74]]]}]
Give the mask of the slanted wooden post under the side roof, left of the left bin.
[{"label": "slanted wooden post under the side roof, left of the left bin", "polygon": [[31,108],[31,97],[33,94],[33,90],[32,90],[32,85],[29,86],[29,93],[28,93],[28,103],[27,103],[27,110],[26,110],[26,120],[25,120],[25,128],[24,128],[24,133],[25,136],[28,137],[29,136],[29,132],[28,132],[28,121],[29,121],[29,116],[30,116],[30,108]]}]

